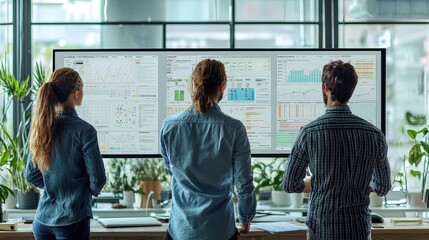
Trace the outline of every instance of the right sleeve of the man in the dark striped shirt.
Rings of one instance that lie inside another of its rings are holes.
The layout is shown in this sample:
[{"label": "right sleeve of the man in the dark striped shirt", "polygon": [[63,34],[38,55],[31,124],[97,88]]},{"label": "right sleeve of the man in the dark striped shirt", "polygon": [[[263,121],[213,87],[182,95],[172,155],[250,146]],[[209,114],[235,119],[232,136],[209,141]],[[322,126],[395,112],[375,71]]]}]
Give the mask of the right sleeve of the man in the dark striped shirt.
[{"label": "right sleeve of the man in the dark striped shirt", "polygon": [[375,163],[374,172],[370,182],[370,187],[380,197],[385,196],[392,187],[387,149],[388,146],[386,140],[383,138],[381,141],[380,155]]}]

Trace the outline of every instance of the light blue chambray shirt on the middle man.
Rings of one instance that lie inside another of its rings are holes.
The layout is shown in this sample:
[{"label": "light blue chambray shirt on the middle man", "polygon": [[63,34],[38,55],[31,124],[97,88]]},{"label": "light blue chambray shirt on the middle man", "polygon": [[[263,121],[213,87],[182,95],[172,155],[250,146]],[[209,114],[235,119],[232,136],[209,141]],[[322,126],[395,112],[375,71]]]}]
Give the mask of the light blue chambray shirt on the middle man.
[{"label": "light blue chambray shirt on the middle man", "polygon": [[206,113],[192,108],[164,120],[161,154],[172,175],[168,231],[175,240],[223,240],[235,231],[231,187],[235,181],[238,218],[249,223],[256,211],[250,144],[244,125],[214,104]]}]

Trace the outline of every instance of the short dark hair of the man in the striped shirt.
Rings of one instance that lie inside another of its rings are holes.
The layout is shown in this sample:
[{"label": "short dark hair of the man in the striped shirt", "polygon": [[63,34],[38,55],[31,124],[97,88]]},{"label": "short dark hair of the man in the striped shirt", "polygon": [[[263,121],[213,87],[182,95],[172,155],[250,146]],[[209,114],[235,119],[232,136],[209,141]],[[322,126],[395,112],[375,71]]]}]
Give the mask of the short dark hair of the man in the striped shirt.
[{"label": "short dark hair of the man in the striped shirt", "polygon": [[358,82],[355,68],[341,60],[323,66],[322,83],[331,91],[331,100],[346,103],[353,95]]}]

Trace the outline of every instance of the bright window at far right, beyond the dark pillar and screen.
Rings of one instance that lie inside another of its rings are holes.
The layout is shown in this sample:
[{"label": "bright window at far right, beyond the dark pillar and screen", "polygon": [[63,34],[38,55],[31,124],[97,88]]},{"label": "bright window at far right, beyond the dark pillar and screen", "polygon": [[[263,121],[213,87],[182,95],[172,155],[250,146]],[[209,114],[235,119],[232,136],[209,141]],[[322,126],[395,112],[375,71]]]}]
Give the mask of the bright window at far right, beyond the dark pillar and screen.
[{"label": "bright window at far right, beyond the dark pillar and screen", "polygon": [[[411,139],[402,132],[403,127],[412,128],[406,123],[406,112],[429,112],[428,4],[427,0],[340,4],[340,47],[386,48],[386,137],[393,176],[401,171],[410,148]],[[413,187],[411,180],[415,178],[408,179],[408,187]]]}]

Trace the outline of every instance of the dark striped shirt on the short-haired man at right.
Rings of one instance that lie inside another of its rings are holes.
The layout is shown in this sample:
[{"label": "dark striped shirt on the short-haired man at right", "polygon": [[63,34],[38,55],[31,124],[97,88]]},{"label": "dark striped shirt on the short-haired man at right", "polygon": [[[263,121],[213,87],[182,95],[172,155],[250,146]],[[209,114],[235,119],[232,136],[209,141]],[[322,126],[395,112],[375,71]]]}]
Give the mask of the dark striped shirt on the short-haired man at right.
[{"label": "dark striped shirt on the short-haired man at right", "polygon": [[303,127],[283,180],[286,192],[301,192],[307,167],[311,194],[307,226],[319,240],[367,239],[371,230],[368,188],[390,190],[384,134],[348,106],[331,106]]}]

